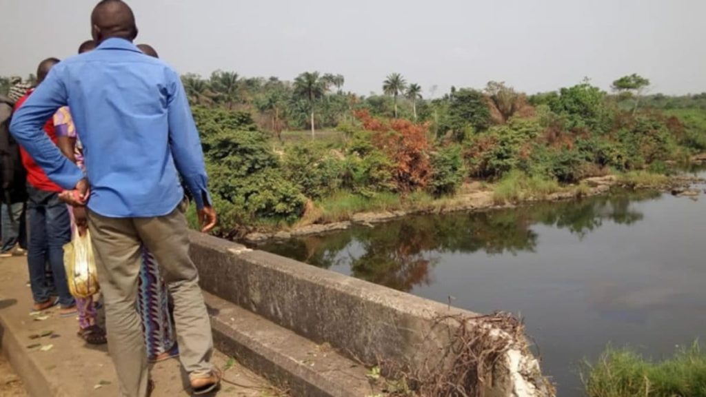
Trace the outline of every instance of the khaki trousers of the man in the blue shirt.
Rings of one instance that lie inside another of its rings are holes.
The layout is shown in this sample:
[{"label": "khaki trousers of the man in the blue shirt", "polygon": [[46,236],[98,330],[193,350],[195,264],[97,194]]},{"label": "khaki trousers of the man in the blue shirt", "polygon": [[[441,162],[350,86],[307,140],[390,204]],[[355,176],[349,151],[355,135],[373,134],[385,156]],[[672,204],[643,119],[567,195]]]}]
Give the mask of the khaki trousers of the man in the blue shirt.
[{"label": "khaki trousers of the man in the blue shirt", "polygon": [[174,299],[181,365],[191,379],[207,377],[213,369],[213,338],[198,271],[189,257],[185,209],[180,205],[169,215],[154,218],[107,218],[88,211],[108,349],[125,397],[147,396],[148,389],[145,341],[136,311],[142,244],[157,259]]}]

